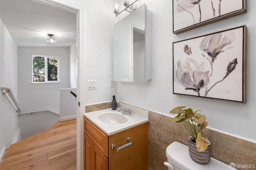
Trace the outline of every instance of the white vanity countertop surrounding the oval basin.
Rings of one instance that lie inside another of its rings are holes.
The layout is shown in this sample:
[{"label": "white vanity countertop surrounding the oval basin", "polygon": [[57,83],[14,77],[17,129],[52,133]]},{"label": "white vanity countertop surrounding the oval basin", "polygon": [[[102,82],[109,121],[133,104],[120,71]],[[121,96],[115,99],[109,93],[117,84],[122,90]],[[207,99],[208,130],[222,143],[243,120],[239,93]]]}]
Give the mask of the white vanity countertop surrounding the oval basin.
[{"label": "white vanity countertop surrounding the oval basin", "polygon": [[[120,104],[118,104],[120,105]],[[124,104],[121,104],[120,107],[124,106]],[[96,125],[98,128],[100,128],[106,135],[110,136],[115,133],[124,131],[126,129],[130,129],[132,127],[141,125],[143,123],[146,123],[149,121],[149,112],[137,107],[131,107],[131,106],[124,106],[125,108],[129,108],[131,110],[131,115],[124,115],[120,111],[112,110],[110,109],[104,109],[99,111],[92,111],[89,113],[84,113],[84,116],[89,119],[94,125]],[[102,120],[100,120],[101,115],[106,115],[106,113],[114,113],[118,114],[121,118],[126,118],[127,121],[122,124],[111,124],[111,123],[105,123]]]}]

